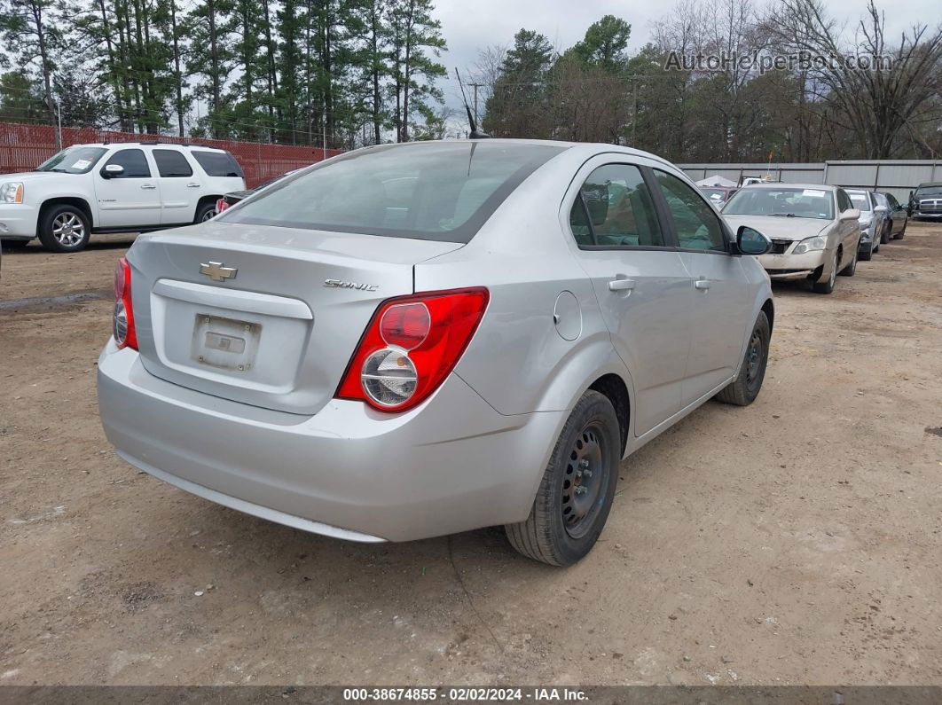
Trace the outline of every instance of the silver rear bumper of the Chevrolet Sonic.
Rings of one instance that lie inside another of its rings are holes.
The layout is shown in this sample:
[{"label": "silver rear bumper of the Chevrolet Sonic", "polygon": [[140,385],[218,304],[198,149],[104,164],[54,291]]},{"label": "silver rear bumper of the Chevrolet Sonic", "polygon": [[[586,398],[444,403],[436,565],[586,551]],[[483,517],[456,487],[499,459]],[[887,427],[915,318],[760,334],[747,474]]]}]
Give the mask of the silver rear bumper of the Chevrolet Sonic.
[{"label": "silver rear bumper of the Chevrolet Sonic", "polygon": [[111,342],[98,393],[108,441],[144,472],[269,521],[363,541],[523,521],[566,416],[502,416],[455,375],[403,414],[332,400],[300,416],[171,384]]}]

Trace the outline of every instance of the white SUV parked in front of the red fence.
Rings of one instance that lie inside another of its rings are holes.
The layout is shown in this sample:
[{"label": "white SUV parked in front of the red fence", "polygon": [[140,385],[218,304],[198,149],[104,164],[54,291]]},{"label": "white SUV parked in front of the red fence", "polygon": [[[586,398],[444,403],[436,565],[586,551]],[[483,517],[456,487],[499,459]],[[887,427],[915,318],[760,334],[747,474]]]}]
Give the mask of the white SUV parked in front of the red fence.
[{"label": "white SUV parked in front of the red fence", "polygon": [[35,171],[0,174],[0,238],[6,248],[39,236],[75,252],[92,232],[146,232],[202,222],[216,200],[245,188],[229,152],[160,142],[81,144]]}]

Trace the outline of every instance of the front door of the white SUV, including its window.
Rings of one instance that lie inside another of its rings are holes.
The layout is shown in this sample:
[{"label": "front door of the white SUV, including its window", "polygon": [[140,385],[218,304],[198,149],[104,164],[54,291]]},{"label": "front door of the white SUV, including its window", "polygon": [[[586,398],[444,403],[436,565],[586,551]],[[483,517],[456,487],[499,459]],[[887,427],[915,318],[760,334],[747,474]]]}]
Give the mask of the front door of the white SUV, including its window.
[{"label": "front door of the white SUV, including its window", "polygon": [[[117,164],[121,174],[106,178],[105,168]],[[112,152],[95,172],[95,200],[100,228],[132,228],[160,224],[160,189],[153,165],[140,147]]]}]

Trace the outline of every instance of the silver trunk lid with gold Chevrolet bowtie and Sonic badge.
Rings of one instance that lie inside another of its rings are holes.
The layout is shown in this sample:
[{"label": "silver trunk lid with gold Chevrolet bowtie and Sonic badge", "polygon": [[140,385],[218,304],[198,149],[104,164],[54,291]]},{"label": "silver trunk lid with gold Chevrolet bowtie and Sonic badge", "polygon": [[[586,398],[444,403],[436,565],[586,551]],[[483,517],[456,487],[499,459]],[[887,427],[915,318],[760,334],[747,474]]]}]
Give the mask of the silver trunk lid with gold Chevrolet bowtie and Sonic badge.
[{"label": "silver trunk lid with gold Chevrolet bowtie and Sonic badge", "polygon": [[222,222],[143,235],[128,254],[141,360],[190,389],[314,414],[382,300],[460,247]]}]

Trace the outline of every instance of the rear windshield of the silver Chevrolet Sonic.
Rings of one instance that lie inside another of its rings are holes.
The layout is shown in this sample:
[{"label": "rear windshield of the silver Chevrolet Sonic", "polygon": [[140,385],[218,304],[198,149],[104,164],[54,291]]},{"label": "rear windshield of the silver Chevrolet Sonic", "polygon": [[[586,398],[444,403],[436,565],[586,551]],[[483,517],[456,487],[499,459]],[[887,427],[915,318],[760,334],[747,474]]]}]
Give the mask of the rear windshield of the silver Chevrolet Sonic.
[{"label": "rear windshield of the silver Chevrolet Sonic", "polygon": [[499,140],[371,147],[273,184],[217,219],[466,243],[563,149]]}]

